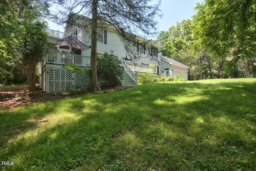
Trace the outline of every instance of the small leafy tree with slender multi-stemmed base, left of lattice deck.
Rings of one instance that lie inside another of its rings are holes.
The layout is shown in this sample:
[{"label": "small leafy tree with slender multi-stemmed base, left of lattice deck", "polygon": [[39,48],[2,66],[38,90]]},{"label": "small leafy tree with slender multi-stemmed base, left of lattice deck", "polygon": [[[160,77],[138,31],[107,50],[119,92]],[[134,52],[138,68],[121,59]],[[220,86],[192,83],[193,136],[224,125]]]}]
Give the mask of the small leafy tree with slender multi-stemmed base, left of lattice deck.
[{"label": "small leafy tree with slender multi-stemmed base, left of lattice deck", "polygon": [[34,93],[36,86],[36,68],[42,56],[49,49],[47,43],[48,34],[43,31],[41,22],[22,22],[22,34],[20,34],[20,46],[18,68],[26,75],[30,94]]}]

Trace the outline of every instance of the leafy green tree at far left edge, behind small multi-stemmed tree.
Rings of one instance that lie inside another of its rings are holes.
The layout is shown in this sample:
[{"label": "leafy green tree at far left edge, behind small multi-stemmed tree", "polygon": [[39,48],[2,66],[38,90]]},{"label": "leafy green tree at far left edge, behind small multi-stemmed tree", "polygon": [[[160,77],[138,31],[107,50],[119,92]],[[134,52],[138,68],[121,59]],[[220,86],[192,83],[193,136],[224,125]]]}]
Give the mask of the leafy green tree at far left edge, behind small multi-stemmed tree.
[{"label": "leafy green tree at far left edge, behind small multi-stemmed tree", "polygon": [[22,20],[43,20],[50,16],[48,8],[49,0],[0,0],[0,84],[16,82],[22,76],[15,65]]}]

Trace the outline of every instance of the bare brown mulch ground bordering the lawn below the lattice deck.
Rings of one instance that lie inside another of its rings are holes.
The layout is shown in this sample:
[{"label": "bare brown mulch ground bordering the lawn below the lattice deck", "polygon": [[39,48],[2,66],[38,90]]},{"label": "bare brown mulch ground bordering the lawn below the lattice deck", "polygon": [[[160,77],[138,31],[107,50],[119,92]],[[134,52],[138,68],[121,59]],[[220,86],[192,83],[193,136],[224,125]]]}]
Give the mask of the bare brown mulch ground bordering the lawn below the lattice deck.
[{"label": "bare brown mulch ground bordering the lawn below the lattice deck", "polygon": [[[120,89],[122,87],[109,87],[104,90]],[[11,109],[19,105],[26,105],[30,103],[38,103],[56,99],[65,99],[66,97],[72,97],[74,95],[84,95],[88,91],[79,91],[75,93],[71,92],[58,92],[58,93],[46,93],[43,89],[36,85],[36,92],[30,96],[28,86],[13,86],[0,88],[0,109]]]}]

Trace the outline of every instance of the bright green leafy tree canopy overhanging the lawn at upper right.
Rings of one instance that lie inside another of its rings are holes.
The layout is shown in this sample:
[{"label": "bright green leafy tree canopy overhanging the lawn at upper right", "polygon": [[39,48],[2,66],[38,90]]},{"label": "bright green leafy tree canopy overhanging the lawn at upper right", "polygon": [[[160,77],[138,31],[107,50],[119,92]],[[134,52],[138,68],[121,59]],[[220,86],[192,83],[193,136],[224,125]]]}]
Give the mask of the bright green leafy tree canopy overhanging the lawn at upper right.
[{"label": "bright green leafy tree canopy overhanging the lawn at upper right", "polygon": [[246,75],[250,77],[248,66],[256,50],[254,0],[205,0],[195,9],[194,37],[218,58],[220,74],[226,58],[233,56],[246,61]]}]

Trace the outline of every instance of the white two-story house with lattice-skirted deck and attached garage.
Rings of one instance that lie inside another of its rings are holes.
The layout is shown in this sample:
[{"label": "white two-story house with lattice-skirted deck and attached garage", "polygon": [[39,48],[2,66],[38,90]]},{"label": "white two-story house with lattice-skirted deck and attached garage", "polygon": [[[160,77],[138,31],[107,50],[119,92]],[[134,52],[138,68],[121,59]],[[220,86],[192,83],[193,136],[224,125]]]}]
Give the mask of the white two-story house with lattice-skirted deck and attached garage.
[{"label": "white two-story house with lattice-skirted deck and attached garage", "polygon": [[[84,23],[88,18],[79,18],[76,22]],[[50,52],[42,58],[40,62],[39,74],[40,85],[46,92],[66,91],[69,87],[75,85],[90,86],[90,79],[83,80],[81,76],[65,70],[63,65],[73,62],[80,67],[90,66],[90,49],[79,50],[72,46],[56,47],[56,41],[67,36],[74,36],[87,46],[91,45],[90,30],[83,30],[79,27],[80,24],[66,25],[65,32],[58,32],[56,30],[46,29],[48,32],[48,40],[52,43]],[[187,73],[188,67],[175,62],[169,61],[170,58],[162,56],[162,45],[150,42],[148,49],[143,45],[144,38],[138,37],[138,44],[134,46],[135,56],[141,56],[137,60],[129,60],[129,56],[124,47],[124,42],[120,40],[118,34],[109,29],[98,29],[97,54],[104,54],[105,52],[118,56],[124,62],[125,68],[123,80],[108,80],[112,85],[122,84],[124,86],[133,86],[137,84],[137,75],[139,72],[149,72],[153,75],[162,74],[165,72],[167,76],[180,74],[180,72]],[[150,47],[151,46],[151,47]],[[152,58],[154,57],[154,58]],[[153,60],[152,60],[153,59]],[[170,59],[171,60],[171,59]],[[183,74],[186,76],[187,74]]]}]

